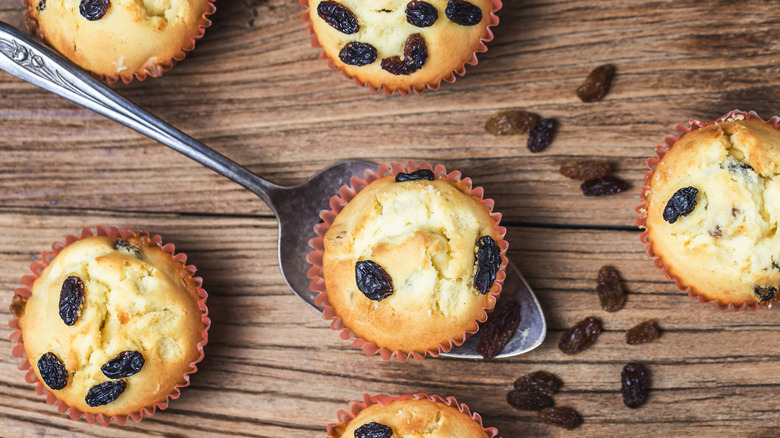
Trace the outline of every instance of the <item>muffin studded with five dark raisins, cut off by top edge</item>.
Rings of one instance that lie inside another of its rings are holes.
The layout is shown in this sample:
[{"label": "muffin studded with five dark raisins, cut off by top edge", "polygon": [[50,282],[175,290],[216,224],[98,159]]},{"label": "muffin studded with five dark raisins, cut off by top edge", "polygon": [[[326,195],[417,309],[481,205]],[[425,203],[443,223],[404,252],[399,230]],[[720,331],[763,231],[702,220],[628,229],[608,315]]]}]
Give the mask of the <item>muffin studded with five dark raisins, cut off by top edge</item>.
[{"label": "muffin studded with five dark raisins, cut off by top edge", "polygon": [[500,0],[301,0],[312,44],[331,67],[387,94],[436,89],[463,75],[493,39]]}]

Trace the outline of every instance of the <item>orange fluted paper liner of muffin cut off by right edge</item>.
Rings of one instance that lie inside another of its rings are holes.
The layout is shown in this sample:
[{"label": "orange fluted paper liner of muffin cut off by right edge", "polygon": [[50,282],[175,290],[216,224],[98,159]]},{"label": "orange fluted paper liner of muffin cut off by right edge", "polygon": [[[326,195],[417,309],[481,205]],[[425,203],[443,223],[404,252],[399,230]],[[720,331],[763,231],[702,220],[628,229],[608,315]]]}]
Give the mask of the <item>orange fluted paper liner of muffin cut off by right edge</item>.
[{"label": "orange fluted paper liner of muffin cut off by right edge", "polygon": [[[723,121],[729,121],[729,120],[742,120],[742,119],[758,119],[761,122],[764,123],[772,123],[775,128],[780,129],[780,117],[773,116],[769,120],[762,119],[755,111],[745,112],[741,110],[733,110],[729,111],[727,114],[719,117],[717,120],[713,122],[703,122],[699,120],[691,119],[688,122],[689,126],[684,125],[677,125],[676,136],[669,136],[664,139],[664,144],[658,145],[655,148],[655,157],[648,158],[647,160],[647,166],[650,168],[647,172],[645,172],[645,182],[642,186],[642,191],[639,194],[639,198],[642,201],[642,205],[638,206],[636,208],[636,212],[639,214],[639,218],[636,220],[636,224],[638,227],[643,228],[644,231],[639,235],[639,239],[642,241],[642,243],[647,244],[647,247],[645,248],[645,253],[653,258],[653,262],[655,263],[655,266],[660,269],[666,278],[674,282],[674,285],[679,289],[681,292],[685,292],[688,294],[688,296],[694,300],[697,300],[701,303],[708,304],[713,303],[715,304],[718,309],[720,310],[729,310],[734,309],[734,312],[739,312],[740,310],[744,308],[748,308],[750,310],[756,311],[760,307],[758,302],[754,303],[742,303],[740,305],[734,305],[733,303],[720,303],[717,299],[715,300],[708,300],[702,296],[702,294],[697,293],[693,289],[691,289],[690,286],[683,285],[680,280],[677,277],[674,277],[669,273],[669,267],[666,266],[661,259],[660,256],[657,256],[655,252],[653,251],[653,243],[649,239],[649,232],[647,230],[647,195],[650,193],[650,179],[653,176],[653,172],[655,170],[655,166],[658,165],[658,163],[661,161],[661,159],[666,155],[667,152],[672,148],[675,142],[680,139],[683,135],[696,130],[700,129],[704,126],[713,124],[713,123],[719,123]],[[767,308],[772,307],[771,301],[768,304],[764,305]]]}]

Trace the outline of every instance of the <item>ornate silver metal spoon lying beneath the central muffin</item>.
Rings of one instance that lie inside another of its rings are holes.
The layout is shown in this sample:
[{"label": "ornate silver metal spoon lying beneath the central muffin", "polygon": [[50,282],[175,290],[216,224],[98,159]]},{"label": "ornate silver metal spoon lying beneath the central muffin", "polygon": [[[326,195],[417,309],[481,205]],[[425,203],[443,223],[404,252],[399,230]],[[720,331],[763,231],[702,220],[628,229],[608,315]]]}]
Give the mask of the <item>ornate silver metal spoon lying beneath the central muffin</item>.
[{"label": "ornate silver metal spoon lying beneath the central muffin", "polygon": [[[373,164],[344,161],[320,171],[300,185],[282,187],[168,125],[58,53],[3,22],[0,22],[0,53],[4,55],[0,56],[0,69],[153,138],[260,197],[271,207],[279,222],[279,266],[287,284],[309,305],[322,310],[314,305],[316,293],[309,289],[306,277],[309,264],[305,256],[311,250],[308,240],[314,236],[319,212],[328,208],[330,197],[338,193],[339,187],[348,184],[352,176],[375,168]],[[515,356],[538,347],[547,333],[542,309],[511,262],[501,296],[499,306],[509,299],[520,302],[522,321],[498,357]],[[476,352],[478,338],[478,334],[473,336],[445,356],[481,358]]]}]

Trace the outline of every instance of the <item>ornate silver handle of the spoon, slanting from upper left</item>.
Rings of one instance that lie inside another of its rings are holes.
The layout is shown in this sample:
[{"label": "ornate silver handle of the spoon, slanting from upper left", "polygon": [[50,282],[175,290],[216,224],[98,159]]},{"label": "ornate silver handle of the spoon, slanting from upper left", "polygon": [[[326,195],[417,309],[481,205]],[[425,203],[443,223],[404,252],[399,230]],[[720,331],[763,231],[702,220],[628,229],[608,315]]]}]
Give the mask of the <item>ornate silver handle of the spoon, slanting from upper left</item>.
[{"label": "ornate silver handle of the spoon, slanting from upper left", "polygon": [[58,53],[0,21],[0,69],[119,122],[257,194],[271,206],[277,185],[260,178],[93,79]]}]

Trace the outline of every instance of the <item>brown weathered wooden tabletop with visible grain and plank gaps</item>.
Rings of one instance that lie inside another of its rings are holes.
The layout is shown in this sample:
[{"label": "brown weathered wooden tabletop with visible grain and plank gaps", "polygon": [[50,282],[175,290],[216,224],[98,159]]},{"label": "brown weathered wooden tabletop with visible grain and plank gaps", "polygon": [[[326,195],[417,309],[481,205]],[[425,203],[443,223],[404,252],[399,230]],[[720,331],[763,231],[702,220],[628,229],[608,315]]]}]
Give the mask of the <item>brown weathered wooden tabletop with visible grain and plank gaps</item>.
[{"label": "brown weathered wooden tabletop with visible grain and plank gaps", "polygon": [[[547,315],[544,344],[485,361],[382,361],[350,348],[285,286],[276,221],[238,185],[129,129],[0,73],[0,319],[31,261],[82,227],[129,225],[187,253],[210,296],[206,359],[170,408],[108,428],[60,415],[24,382],[0,328],[0,435],[324,436],[364,392],[452,395],[501,436],[780,436],[780,330],[773,311],[720,312],[678,292],[644,254],[634,207],[645,160],[675,126],[780,101],[780,12],[773,1],[507,1],[490,50],[454,84],[421,96],[356,87],[318,59],[293,0],[219,1],[214,25],[163,78],[117,85],[137,102],[252,171],[282,184],[347,158],[441,162],[496,201],[510,258]],[[0,19],[23,27],[18,0]],[[594,67],[618,73],[603,102],[574,94]],[[495,137],[484,121],[524,108],[560,129],[544,152],[525,136]],[[558,174],[602,158],[628,192],[586,198]],[[625,308],[606,313],[598,269],[617,267]],[[586,316],[605,332],[563,355],[563,329]],[[625,330],[653,319],[651,344]],[[620,371],[642,361],[648,403],[626,408]],[[563,381],[560,406],[584,424],[568,432],[505,400],[534,370]]]}]

